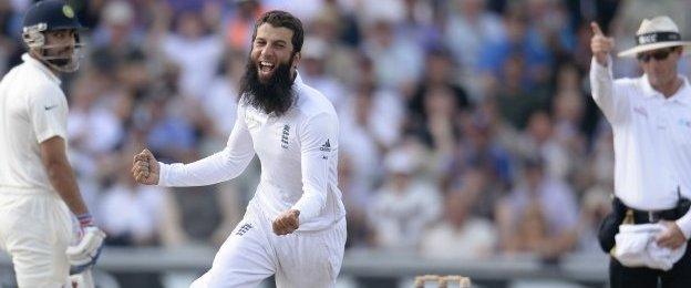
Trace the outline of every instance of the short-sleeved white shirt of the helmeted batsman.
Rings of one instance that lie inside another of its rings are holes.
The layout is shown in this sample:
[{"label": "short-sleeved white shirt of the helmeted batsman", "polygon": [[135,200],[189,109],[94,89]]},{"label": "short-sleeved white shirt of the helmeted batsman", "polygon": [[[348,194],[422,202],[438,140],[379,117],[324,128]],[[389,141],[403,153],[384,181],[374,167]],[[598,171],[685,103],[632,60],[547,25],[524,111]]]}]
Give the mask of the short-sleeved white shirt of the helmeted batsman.
[{"label": "short-sleeved white shirt of the helmeted batsman", "polygon": [[29,54],[0,82],[0,193],[53,191],[40,143],[66,142],[68,101],[60,79]]}]

